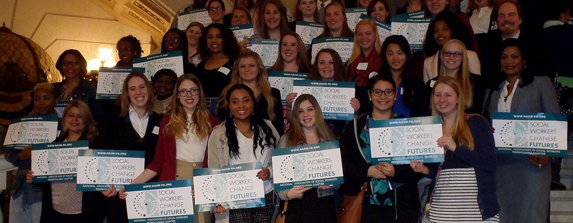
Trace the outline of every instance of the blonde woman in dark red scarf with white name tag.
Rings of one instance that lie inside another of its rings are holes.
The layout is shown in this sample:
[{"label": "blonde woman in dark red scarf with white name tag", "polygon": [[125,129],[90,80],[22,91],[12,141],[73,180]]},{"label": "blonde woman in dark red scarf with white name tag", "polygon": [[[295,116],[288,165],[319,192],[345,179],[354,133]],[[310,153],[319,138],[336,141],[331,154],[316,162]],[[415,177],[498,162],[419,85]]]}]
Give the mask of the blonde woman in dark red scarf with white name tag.
[{"label": "blonde woman in dark red scarf with white name tag", "polygon": [[374,19],[360,20],[356,24],[355,31],[354,48],[346,66],[348,75],[356,82],[356,87],[364,87],[370,73],[378,71],[382,64],[380,59],[382,44]]}]

